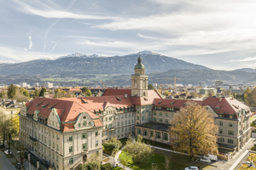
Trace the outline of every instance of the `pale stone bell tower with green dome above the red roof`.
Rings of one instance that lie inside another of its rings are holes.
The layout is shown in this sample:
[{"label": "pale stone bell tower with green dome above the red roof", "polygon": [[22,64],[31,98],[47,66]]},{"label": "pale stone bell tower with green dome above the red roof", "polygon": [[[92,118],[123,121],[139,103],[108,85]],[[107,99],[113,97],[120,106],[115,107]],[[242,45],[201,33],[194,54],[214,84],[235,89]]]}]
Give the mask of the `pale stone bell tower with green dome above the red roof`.
[{"label": "pale stone bell tower with green dome above the red roof", "polygon": [[145,76],[145,66],[140,55],[134,71],[135,74],[131,75],[131,96],[148,97],[148,76]]}]

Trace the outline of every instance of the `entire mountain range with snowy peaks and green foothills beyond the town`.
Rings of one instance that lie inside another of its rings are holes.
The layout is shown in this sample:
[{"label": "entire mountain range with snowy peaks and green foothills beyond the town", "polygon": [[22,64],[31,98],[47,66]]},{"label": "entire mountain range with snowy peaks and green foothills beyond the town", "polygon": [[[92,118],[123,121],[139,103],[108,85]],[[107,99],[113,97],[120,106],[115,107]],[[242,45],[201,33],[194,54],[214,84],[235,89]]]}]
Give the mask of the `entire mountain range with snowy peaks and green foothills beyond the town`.
[{"label": "entire mountain range with snowy peaks and green foothills beyond the town", "polygon": [[19,82],[54,82],[61,86],[129,85],[138,56],[143,58],[148,83],[173,83],[167,78],[177,77],[177,83],[208,85],[221,80],[230,84],[256,82],[256,70],[237,69],[217,71],[181,59],[145,50],[140,54],[106,57],[98,54],[69,54],[59,58],[34,59],[20,63],[0,64],[0,84]]}]

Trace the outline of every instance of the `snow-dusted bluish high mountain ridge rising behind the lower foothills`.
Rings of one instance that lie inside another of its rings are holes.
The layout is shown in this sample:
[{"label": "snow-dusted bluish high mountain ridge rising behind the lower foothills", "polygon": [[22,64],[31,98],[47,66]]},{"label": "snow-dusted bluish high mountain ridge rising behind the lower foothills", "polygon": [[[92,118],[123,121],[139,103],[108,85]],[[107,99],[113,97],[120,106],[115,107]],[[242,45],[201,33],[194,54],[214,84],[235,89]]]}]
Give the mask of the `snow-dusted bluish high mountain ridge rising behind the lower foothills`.
[{"label": "snow-dusted bluish high mountain ridge rising behind the lower foothills", "polygon": [[93,54],[71,54],[57,59],[35,59],[27,62],[0,64],[0,75],[53,75],[53,74],[131,74],[141,55],[147,73],[170,69],[209,70],[181,59],[167,57],[148,50],[140,54],[103,57]]}]

